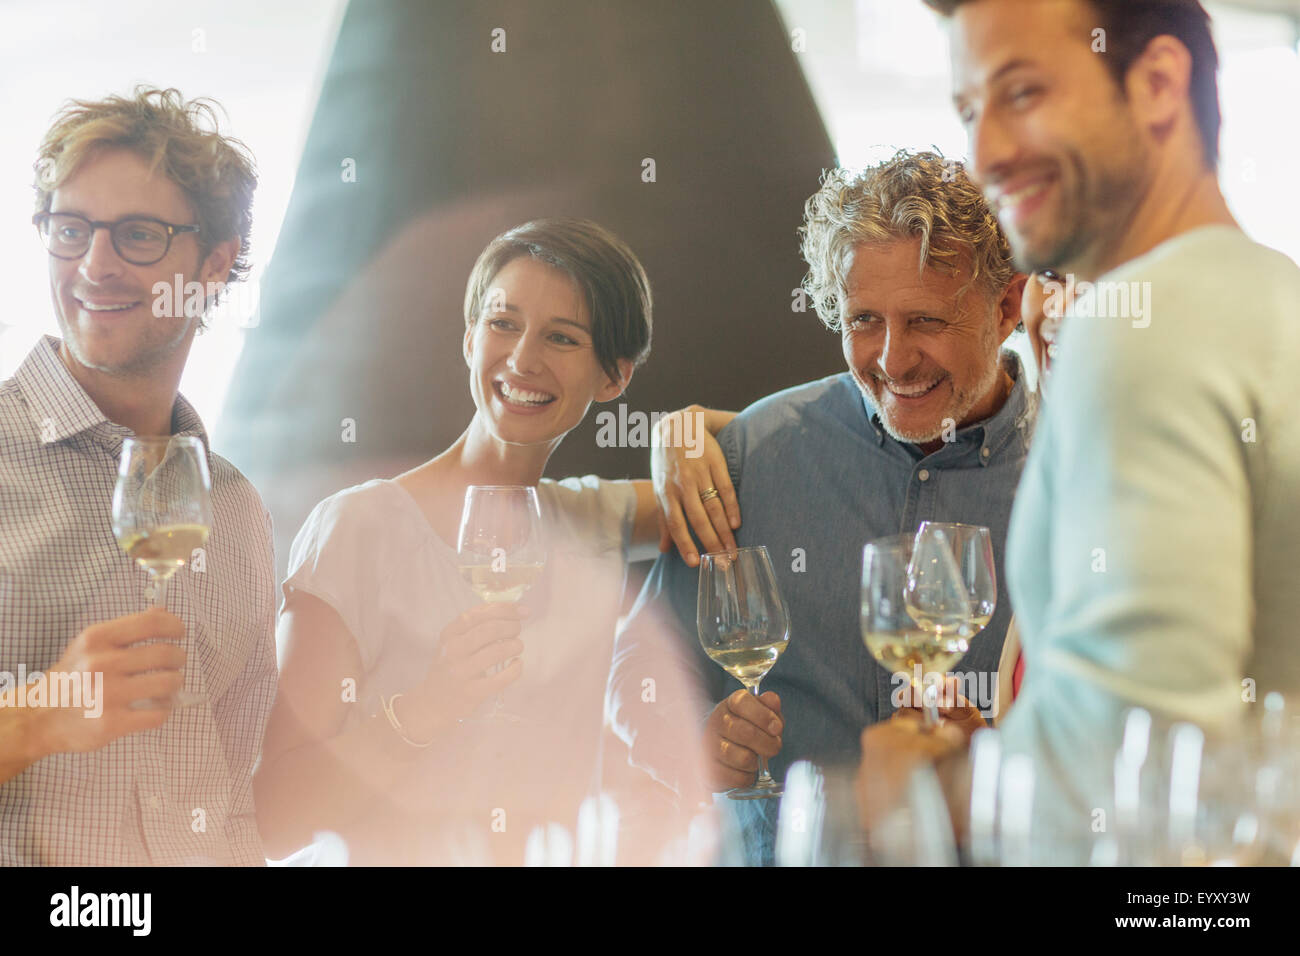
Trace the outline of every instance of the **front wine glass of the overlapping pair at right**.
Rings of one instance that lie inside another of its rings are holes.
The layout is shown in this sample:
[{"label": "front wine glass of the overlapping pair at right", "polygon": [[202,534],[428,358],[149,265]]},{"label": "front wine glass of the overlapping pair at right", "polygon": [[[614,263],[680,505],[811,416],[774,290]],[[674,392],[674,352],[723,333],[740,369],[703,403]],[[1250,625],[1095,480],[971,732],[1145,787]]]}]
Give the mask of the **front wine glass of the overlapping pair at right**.
[{"label": "front wine glass of the overlapping pair at right", "polygon": [[[923,628],[907,607],[914,545],[913,535],[892,535],[868,541],[862,549],[862,640],[885,670],[907,682],[905,704],[911,695],[927,697],[926,687],[935,675],[942,680],[966,653],[965,641]],[[927,726],[939,723],[932,701],[922,717]]]}]

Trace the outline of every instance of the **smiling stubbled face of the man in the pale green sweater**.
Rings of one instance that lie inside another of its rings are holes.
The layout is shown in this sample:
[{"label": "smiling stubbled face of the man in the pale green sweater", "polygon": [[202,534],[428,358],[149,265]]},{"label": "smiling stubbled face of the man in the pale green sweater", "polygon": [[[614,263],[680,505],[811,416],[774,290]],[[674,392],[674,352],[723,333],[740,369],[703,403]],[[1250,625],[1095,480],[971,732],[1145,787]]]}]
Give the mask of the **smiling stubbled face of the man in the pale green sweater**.
[{"label": "smiling stubbled face of the man in the pale green sweater", "polygon": [[1092,272],[1145,193],[1148,150],[1092,20],[1084,0],[979,0],[953,16],[972,174],[1026,272]]}]

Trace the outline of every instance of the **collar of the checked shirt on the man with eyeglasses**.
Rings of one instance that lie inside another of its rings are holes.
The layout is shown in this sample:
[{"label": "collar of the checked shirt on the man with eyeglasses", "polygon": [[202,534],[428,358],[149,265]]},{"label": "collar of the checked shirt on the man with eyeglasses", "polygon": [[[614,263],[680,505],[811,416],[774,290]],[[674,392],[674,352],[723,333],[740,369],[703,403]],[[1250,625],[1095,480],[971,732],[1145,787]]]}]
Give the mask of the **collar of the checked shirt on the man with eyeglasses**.
[{"label": "collar of the checked shirt on the man with eyeglasses", "polygon": [[[135,433],[105,418],[95,399],[86,394],[86,389],[73,378],[58,358],[60,345],[62,342],[57,337],[42,336],[13,376],[26,399],[36,434],[46,445],[90,433],[120,446],[122,438]],[[177,394],[172,406],[172,434],[198,437],[203,441],[204,450],[212,453],[203,420],[181,394]]]}]

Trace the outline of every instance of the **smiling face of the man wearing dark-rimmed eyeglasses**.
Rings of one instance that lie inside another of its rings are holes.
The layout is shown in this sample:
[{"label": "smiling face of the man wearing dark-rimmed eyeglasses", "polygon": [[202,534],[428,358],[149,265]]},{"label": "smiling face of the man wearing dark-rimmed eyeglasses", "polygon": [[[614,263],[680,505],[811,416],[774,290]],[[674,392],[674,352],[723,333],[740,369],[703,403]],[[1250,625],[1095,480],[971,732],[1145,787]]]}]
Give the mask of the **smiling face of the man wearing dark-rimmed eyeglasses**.
[{"label": "smiling face of the man wearing dark-rimmed eyeglasses", "polygon": [[[91,221],[143,216],[176,225],[194,222],[181,189],[134,152],[110,150],[91,157],[51,199],[51,212]],[[220,254],[208,258],[199,277],[200,250],[194,234],[173,237],[168,254],[152,265],[133,265],[117,255],[108,229],[96,229],[81,259],[49,256],[49,289],[65,351],[79,365],[113,376],[142,375],[185,362],[195,317],[153,315],[153,284],[174,286],[225,278]],[[226,265],[229,268],[229,264]],[[183,310],[176,310],[182,312]],[[68,360],[68,358],[65,358]]]}]

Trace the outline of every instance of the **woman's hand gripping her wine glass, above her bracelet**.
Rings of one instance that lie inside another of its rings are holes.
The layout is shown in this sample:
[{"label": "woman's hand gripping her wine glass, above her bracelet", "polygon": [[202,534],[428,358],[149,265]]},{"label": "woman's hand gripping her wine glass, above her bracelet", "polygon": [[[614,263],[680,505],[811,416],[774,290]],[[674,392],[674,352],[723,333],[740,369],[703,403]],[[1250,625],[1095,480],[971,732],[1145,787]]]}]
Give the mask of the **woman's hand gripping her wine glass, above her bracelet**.
[{"label": "woman's hand gripping her wine glass, above her bracelet", "polygon": [[[439,730],[468,717],[489,697],[519,680],[520,623],[528,609],[515,604],[471,607],[442,628],[438,656],[419,687],[394,704],[407,736],[432,740]],[[506,662],[510,663],[506,663]],[[489,674],[491,667],[506,665]]]}]

